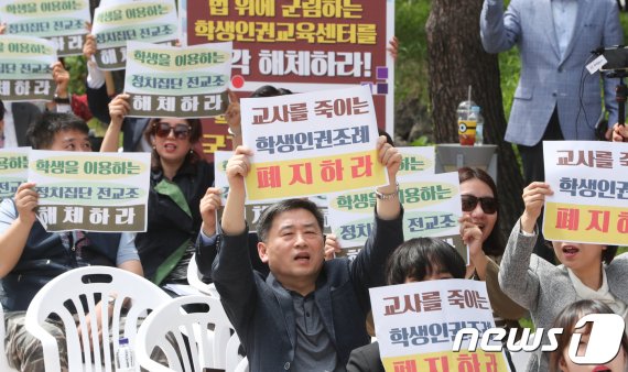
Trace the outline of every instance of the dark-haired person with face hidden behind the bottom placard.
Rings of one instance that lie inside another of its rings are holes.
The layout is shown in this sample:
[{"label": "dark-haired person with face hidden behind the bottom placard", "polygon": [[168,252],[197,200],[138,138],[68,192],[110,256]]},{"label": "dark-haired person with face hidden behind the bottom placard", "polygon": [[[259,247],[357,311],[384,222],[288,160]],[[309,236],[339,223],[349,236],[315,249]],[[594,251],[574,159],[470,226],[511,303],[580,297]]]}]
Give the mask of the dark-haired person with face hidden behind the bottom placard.
[{"label": "dark-haired person with face hidden behind the bottom placard", "polygon": [[[462,255],[445,241],[433,238],[414,238],[392,252],[386,266],[388,285],[465,278],[466,267]],[[351,351],[347,372],[383,372],[377,341]]]}]

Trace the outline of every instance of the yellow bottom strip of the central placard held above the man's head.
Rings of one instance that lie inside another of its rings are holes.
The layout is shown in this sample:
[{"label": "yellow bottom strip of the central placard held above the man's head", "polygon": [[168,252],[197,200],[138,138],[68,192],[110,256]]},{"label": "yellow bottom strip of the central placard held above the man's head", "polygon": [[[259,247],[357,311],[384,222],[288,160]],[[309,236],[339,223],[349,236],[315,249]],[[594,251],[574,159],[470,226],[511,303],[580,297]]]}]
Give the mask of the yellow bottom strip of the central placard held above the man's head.
[{"label": "yellow bottom strip of the central placard held above the man's head", "polygon": [[249,200],[299,197],[386,184],[377,151],[251,164]]}]

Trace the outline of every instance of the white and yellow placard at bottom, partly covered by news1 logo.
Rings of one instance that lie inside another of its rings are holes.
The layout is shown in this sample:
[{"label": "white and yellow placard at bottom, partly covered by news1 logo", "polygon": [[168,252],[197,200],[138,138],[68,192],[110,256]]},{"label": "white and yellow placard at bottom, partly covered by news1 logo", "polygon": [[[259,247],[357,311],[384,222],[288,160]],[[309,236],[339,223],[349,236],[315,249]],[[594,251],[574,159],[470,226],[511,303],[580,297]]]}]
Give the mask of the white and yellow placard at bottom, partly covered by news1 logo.
[{"label": "white and yellow placard at bottom, partly covered by news1 logo", "polygon": [[486,283],[441,280],[369,291],[386,371],[509,371],[501,352],[452,351],[458,330],[495,328]]}]

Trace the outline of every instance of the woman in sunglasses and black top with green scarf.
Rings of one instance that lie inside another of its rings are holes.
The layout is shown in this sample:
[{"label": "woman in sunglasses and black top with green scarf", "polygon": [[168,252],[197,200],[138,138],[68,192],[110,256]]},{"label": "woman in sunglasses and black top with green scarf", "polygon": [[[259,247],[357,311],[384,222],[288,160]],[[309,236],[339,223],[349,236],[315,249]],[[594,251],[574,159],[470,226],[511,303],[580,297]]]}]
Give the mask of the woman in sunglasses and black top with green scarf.
[{"label": "woman in sunglasses and black top with green scarf", "polygon": [[[101,152],[117,151],[130,108],[128,99],[122,94],[109,103],[111,123]],[[155,284],[187,284],[187,263],[203,221],[198,206],[214,183],[214,165],[194,150],[201,135],[198,119],[154,118],[144,130],[152,146],[149,220],[147,232],[136,237],[136,245],[145,277]],[[215,223],[206,226],[213,229]]]}]

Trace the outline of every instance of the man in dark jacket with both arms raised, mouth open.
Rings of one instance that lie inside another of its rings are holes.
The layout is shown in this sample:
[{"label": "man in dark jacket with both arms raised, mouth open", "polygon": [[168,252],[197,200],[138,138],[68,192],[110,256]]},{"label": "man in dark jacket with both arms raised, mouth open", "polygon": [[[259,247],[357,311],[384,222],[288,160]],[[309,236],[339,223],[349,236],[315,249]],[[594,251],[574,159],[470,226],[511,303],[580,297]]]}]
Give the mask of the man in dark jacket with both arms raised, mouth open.
[{"label": "man in dark jacket with both arms raised, mouth open", "polygon": [[389,184],[377,188],[376,227],[365,249],[353,262],[325,261],[317,207],[283,200],[260,218],[258,252],[271,271],[266,281],[251,267],[243,215],[252,152],[239,146],[229,160],[213,277],[252,371],[344,371],[349,352],[368,343],[368,288],[383,284],[382,262],[403,241],[396,185],[401,155],[383,136],[377,150]]}]

